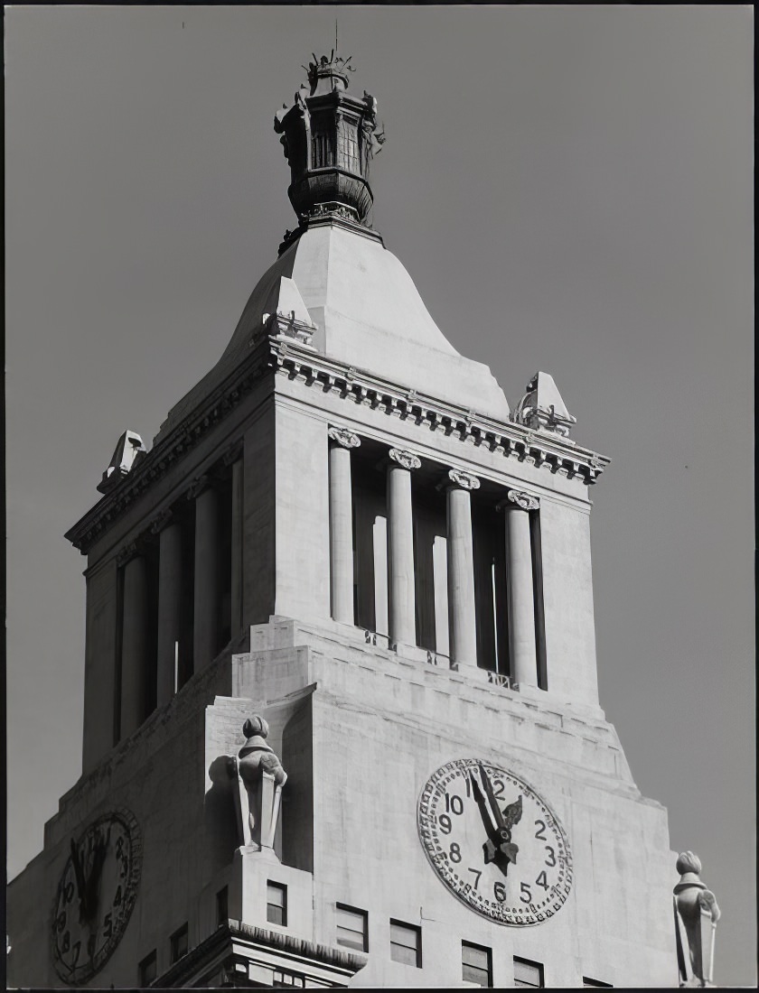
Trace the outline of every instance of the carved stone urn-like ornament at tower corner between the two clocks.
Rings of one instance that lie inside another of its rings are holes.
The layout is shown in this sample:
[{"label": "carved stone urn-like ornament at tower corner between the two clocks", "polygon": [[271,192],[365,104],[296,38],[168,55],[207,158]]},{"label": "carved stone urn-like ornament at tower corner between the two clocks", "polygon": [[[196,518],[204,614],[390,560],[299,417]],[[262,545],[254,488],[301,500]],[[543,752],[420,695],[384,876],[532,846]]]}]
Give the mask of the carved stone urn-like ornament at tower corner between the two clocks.
[{"label": "carved stone urn-like ornament at tower corner between the two clocks", "polygon": [[237,780],[237,827],[240,844],[252,851],[272,849],[287,774],[266,744],[269,726],[255,714],[242,725],[245,744],[232,758],[230,775]]}]

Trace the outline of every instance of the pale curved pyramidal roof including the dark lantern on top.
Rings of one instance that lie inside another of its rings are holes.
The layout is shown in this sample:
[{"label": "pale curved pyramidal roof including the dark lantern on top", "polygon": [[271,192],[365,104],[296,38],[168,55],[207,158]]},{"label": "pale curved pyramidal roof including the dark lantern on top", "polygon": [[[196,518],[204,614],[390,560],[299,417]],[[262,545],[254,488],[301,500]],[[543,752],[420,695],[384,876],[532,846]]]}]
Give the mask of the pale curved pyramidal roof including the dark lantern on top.
[{"label": "pale curved pyramidal roof including the dark lantern on top", "polygon": [[224,355],[170,411],[156,441],[271,333],[272,315],[308,328],[320,355],[509,420],[509,404],[488,366],[456,352],[369,225],[369,167],[382,135],[375,98],[347,93],[347,62],[334,52],[315,60],[310,91],[301,86],[293,105],[277,112],[274,129],[290,166],[288,196],[299,225],[253,289]]}]

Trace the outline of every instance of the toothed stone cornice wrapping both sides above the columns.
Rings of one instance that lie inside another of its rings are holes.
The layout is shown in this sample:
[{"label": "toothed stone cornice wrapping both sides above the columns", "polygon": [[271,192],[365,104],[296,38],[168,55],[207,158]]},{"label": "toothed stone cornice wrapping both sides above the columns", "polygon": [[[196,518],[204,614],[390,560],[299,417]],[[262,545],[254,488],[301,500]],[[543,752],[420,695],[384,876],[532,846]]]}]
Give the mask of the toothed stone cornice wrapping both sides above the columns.
[{"label": "toothed stone cornice wrapping both sides above the columns", "polygon": [[319,355],[282,335],[255,339],[251,350],[196,409],[137,463],[128,476],[88,510],[66,537],[86,554],[105,530],[158,479],[213,430],[253,389],[267,371],[299,379],[308,386],[336,392],[342,398],[366,404],[432,430],[472,439],[492,452],[547,468],[568,479],[595,483],[610,460],[580,448],[560,436],[534,431],[522,424],[499,421],[447,400],[417,393],[415,389],[357,369],[335,358]]}]

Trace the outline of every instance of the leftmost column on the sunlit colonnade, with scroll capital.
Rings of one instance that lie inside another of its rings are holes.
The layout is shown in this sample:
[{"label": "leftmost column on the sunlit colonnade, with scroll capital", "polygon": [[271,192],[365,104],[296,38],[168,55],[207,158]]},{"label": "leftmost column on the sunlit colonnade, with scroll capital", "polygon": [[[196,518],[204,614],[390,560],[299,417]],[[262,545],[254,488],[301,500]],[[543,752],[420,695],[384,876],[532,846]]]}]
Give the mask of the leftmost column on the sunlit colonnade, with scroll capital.
[{"label": "leftmost column on the sunlit colonnade, with scroll capital", "polygon": [[354,623],[353,493],[351,449],[361,444],[345,428],[330,428],[330,579],[332,617]]}]

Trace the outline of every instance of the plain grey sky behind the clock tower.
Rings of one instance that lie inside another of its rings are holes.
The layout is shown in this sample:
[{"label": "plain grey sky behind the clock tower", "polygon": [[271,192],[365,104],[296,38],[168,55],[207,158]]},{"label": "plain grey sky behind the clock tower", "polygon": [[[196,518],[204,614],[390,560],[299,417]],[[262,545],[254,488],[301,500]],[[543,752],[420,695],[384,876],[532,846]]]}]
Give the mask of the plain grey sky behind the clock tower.
[{"label": "plain grey sky behind the clock tower", "polygon": [[717,981],[754,984],[749,7],[6,8],[10,875],[80,773],[64,531],[294,226],[271,121],[336,13],[385,123],[387,247],[510,402],[551,372],[613,459],[601,703],[703,861]]}]

